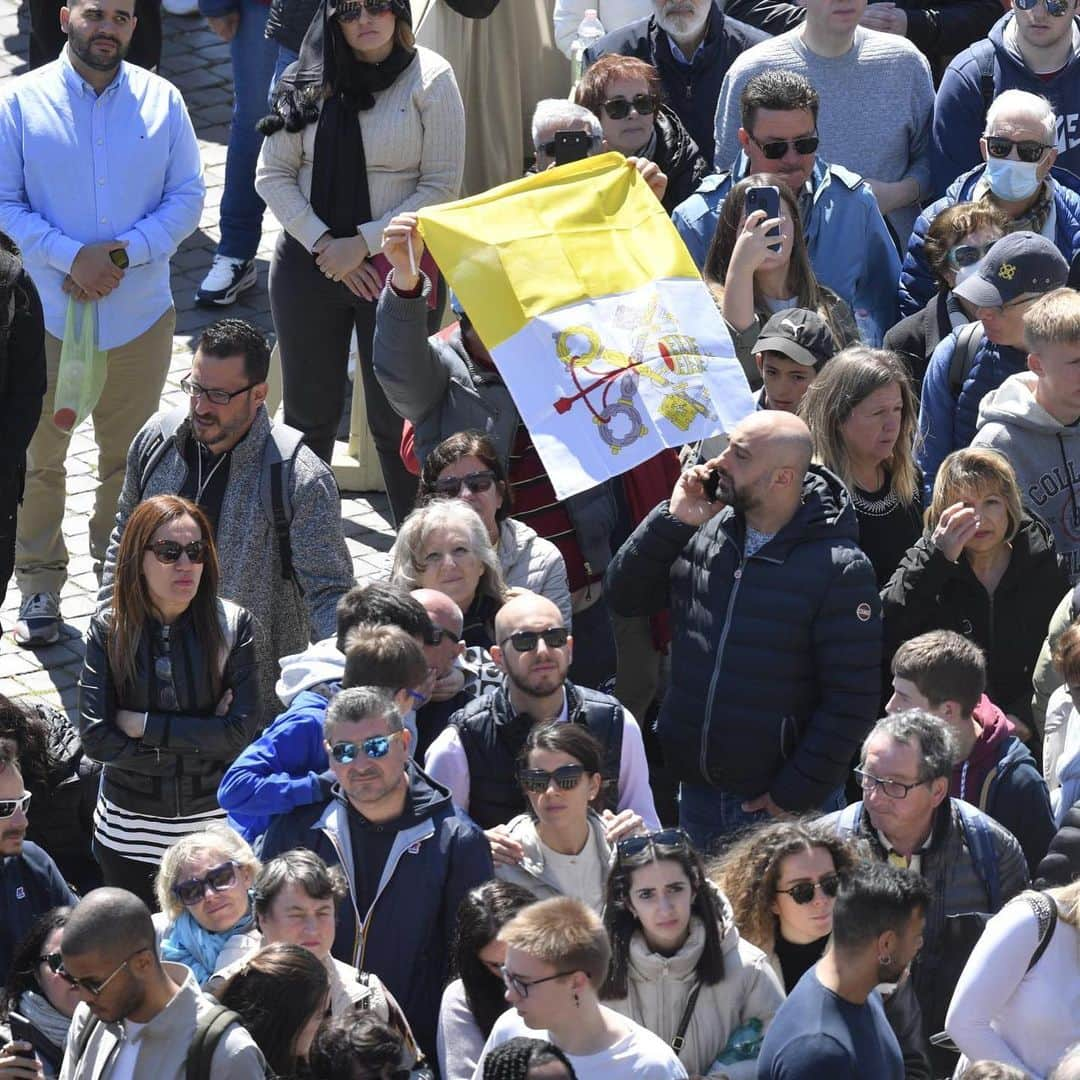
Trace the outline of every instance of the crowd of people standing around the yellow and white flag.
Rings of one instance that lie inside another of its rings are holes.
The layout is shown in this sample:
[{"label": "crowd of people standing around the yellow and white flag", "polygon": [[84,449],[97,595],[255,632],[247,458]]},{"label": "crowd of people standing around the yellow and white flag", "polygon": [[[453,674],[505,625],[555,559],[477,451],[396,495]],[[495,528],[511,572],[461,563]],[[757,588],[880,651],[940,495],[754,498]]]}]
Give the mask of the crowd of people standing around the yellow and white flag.
[{"label": "crowd of people standing around the yellow and white flag", "polygon": [[[213,322],[184,407],[156,0],[35,0],[0,91],[14,642],[83,414],[100,585],[77,719],[0,697],[0,1080],[1080,1078],[1078,0],[545,0],[581,71],[525,141],[459,89],[515,56],[409,0],[202,4],[199,302],[282,232],[273,351]],[[559,499],[418,213],[567,147],[670,215],[755,408]]]}]

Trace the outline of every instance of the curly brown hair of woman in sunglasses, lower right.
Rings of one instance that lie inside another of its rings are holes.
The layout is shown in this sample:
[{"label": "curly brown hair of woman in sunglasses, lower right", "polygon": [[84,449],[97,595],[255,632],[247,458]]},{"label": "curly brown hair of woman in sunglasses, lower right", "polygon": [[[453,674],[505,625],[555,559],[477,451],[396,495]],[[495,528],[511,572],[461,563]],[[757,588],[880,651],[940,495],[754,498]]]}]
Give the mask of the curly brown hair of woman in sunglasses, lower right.
[{"label": "curly brown hair of woman in sunglasses, lower right", "polygon": [[708,866],[708,878],[728,897],[739,933],[752,945],[771,953],[779,922],[772,910],[781,863],[788,855],[824,848],[841,879],[856,863],[852,845],[820,820],[779,821],[747,833]]}]

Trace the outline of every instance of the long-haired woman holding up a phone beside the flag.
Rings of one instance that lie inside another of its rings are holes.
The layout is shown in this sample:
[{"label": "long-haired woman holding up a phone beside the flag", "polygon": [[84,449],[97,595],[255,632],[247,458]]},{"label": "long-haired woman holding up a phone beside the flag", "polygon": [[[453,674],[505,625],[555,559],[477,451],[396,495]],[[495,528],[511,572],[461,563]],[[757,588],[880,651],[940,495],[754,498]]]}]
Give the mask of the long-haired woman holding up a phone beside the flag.
[{"label": "long-haired woman holding up a phone beside the flag", "polygon": [[[767,218],[765,211],[746,214],[746,192],[756,187],[780,192],[779,218]],[[752,390],[761,386],[754,345],[778,311],[816,311],[838,348],[859,341],[851,309],[814,275],[800,221],[798,203],[786,185],[774,184],[771,176],[747,176],[724,200],[705,256],[702,276],[724,313]]]}]

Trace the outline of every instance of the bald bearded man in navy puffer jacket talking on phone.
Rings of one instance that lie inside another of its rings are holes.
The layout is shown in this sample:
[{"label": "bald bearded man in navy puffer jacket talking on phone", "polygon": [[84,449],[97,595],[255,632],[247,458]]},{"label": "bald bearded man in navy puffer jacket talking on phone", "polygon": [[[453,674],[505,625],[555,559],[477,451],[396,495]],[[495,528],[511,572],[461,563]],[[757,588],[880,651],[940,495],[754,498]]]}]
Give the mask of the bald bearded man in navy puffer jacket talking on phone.
[{"label": "bald bearded man in navy puffer jacket talking on phone", "polygon": [[881,609],[851,498],[811,465],[810,432],[760,411],[685,472],[605,578],[612,609],[671,605],[658,734],[701,849],[746,825],[840,805],[877,717]]}]

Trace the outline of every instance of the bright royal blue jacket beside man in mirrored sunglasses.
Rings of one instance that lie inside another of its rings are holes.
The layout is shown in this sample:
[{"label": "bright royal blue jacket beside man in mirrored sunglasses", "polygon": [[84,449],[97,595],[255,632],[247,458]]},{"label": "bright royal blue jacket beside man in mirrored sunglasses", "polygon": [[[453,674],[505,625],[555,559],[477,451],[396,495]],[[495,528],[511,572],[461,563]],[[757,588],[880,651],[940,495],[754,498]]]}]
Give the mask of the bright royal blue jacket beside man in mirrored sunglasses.
[{"label": "bright royal blue jacket beside man in mirrored sunglasses", "polygon": [[329,768],[323,745],[328,703],[321,693],[301,690],[221,778],[217,801],[244,839],[260,837],[272,818],[326,797],[321,777]]}]

